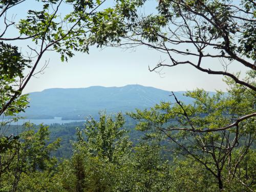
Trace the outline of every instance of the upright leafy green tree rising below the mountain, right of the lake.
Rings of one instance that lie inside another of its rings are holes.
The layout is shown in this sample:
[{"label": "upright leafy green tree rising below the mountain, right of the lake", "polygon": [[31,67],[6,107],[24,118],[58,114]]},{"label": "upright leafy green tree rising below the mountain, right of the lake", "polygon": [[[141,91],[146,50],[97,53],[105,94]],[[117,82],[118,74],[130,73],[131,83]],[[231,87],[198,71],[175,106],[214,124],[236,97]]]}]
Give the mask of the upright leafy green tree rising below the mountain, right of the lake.
[{"label": "upright leafy green tree rising below the mountain, right of the lake", "polygon": [[131,142],[124,135],[124,117],[121,113],[115,115],[115,120],[105,113],[100,114],[99,121],[87,120],[83,133],[85,143],[92,156],[98,156],[110,162],[118,162],[121,156],[129,154]]}]

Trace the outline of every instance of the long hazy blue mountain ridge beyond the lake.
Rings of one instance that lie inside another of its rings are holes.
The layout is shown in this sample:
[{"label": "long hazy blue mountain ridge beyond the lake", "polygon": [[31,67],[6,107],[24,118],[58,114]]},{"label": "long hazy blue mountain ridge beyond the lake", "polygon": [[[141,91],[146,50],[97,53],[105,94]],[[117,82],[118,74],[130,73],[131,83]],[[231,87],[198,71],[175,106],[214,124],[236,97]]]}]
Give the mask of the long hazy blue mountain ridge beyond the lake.
[{"label": "long hazy blue mountain ridge beyond the lake", "polygon": [[[193,99],[183,96],[184,92],[175,92],[177,98],[185,103]],[[138,84],[124,87],[101,87],[72,89],[47,89],[29,93],[30,108],[25,116],[33,119],[62,117],[63,119],[84,119],[95,116],[99,111],[108,113],[127,112],[154,106],[160,101],[174,102],[169,91],[144,87]]]}]

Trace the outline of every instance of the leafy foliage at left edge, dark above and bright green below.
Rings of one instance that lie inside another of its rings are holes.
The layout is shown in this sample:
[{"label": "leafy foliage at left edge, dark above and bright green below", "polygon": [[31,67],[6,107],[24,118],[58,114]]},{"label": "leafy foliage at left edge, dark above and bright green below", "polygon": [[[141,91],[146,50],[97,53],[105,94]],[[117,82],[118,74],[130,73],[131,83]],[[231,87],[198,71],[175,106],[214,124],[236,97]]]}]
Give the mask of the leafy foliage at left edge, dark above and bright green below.
[{"label": "leafy foliage at left edge, dark above and bright green below", "polygon": [[17,79],[24,78],[24,69],[30,68],[29,61],[23,58],[16,46],[5,44],[3,41],[0,42],[0,109],[1,114],[5,116],[14,116],[26,109],[28,104],[27,95],[21,96],[19,93],[19,96],[13,100],[9,108],[2,113],[6,101],[17,92]]}]

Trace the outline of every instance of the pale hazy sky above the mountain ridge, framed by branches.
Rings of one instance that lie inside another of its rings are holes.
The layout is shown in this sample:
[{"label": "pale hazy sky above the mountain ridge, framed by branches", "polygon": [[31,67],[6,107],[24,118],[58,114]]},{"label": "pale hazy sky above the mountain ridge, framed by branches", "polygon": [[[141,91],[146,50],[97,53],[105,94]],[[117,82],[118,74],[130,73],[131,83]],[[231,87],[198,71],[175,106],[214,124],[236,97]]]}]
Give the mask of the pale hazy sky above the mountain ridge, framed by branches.
[{"label": "pale hazy sky above the mountain ridge, framed by branches", "polygon": [[[26,4],[22,5],[26,8]],[[32,6],[33,7],[33,6]],[[148,10],[155,7],[155,1],[149,1]],[[146,10],[145,8],[145,10]],[[13,10],[22,15],[23,9]],[[10,35],[15,35],[11,31]],[[24,47],[26,42],[17,42]],[[223,76],[209,75],[189,66],[163,68],[161,75],[150,72],[148,66],[155,67],[161,60],[169,62],[167,55],[147,47],[136,50],[107,47],[91,47],[89,54],[76,53],[68,62],[61,62],[57,53],[44,55],[40,66],[49,60],[43,74],[37,74],[27,84],[24,93],[42,91],[49,88],[86,88],[90,86],[122,87],[127,84],[141,84],[168,91],[187,91],[202,88],[207,91],[226,90]],[[206,65],[214,66],[216,60],[206,60]],[[244,70],[234,67],[234,71]]]}]

